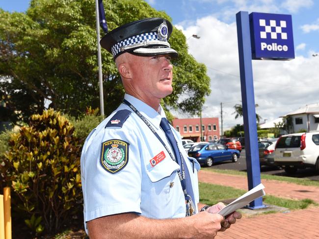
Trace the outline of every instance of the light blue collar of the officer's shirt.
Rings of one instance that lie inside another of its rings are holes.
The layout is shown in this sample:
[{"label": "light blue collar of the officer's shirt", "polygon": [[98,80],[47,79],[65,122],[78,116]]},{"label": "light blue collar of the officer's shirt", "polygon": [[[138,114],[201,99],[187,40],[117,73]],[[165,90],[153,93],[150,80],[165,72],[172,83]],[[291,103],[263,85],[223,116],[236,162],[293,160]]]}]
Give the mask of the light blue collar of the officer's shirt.
[{"label": "light blue collar of the officer's shirt", "polygon": [[151,106],[135,98],[134,96],[126,93],[124,98],[129,101],[136,108],[136,110],[138,110],[139,113],[141,113],[141,115],[144,116],[157,130],[160,129],[161,118],[166,118],[165,112],[161,105],[159,106],[160,113],[158,113]]}]

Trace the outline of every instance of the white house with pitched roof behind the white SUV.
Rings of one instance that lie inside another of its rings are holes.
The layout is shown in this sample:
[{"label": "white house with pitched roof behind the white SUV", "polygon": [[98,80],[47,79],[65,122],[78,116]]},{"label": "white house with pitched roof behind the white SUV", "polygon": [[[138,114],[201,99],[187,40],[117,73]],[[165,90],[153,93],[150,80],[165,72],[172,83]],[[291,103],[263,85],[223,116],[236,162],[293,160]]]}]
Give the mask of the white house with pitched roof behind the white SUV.
[{"label": "white house with pitched roof behind the white SUV", "polygon": [[302,129],[307,132],[319,131],[319,103],[305,105],[282,117],[292,118],[293,132]]}]

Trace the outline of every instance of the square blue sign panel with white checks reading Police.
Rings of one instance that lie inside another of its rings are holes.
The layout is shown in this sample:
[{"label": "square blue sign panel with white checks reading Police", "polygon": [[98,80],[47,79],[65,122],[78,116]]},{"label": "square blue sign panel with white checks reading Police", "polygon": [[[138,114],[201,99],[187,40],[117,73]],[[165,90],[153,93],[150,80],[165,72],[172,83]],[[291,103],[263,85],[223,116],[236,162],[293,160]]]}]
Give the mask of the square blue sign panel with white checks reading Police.
[{"label": "square blue sign panel with white checks reading Police", "polygon": [[292,16],[252,12],[249,14],[252,58],[294,58]]}]

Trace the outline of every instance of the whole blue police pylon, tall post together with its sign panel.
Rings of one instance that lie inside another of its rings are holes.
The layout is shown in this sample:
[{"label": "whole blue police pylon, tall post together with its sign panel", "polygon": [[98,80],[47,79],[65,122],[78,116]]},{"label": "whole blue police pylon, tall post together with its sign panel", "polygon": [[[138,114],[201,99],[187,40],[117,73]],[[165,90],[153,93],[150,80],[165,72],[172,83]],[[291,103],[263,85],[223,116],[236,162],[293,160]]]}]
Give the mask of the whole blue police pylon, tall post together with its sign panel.
[{"label": "whole blue police pylon, tall post together with its sign panel", "polygon": [[[244,119],[249,190],[261,183],[252,58],[294,58],[291,16],[252,13],[250,20],[251,24],[249,24],[248,12],[240,11],[236,14],[242,115]],[[263,204],[261,197],[249,204],[249,208],[251,209],[264,207],[266,206]]]}]

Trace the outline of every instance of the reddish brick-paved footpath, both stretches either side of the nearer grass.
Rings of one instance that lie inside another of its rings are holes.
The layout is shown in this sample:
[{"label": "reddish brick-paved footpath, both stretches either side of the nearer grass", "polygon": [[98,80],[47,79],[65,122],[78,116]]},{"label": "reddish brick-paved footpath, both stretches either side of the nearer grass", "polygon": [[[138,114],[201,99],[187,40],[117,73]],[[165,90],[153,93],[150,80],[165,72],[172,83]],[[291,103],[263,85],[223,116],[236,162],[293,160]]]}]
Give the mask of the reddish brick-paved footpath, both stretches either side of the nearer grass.
[{"label": "reddish brick-paved footpath, both stretches either side of the nearer grass", "polygon": [[[247,190],[247,177],[200,170],[200,182]],[[262,180],[266,194],[319,203],[319,187]],[[244,216],[215,239],[319,239],[319,207],[285,213]]]}]

